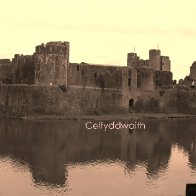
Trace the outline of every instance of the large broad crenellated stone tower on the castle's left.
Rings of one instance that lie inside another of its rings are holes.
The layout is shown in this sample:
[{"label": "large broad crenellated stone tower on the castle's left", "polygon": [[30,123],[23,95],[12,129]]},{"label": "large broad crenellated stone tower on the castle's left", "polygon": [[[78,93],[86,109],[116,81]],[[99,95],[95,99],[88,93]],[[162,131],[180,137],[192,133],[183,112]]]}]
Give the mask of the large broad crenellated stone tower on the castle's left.
[{"label": "large broad crenellated stone tower on the castle's left", "polygon": [[69,42],[36,46],[35,84],[68,86]]}]

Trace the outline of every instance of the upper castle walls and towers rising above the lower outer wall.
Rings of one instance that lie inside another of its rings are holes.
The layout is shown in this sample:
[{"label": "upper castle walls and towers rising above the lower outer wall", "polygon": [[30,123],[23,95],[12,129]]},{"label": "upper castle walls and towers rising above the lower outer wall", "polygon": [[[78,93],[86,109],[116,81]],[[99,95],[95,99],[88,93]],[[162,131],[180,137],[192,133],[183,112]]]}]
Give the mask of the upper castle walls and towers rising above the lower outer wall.
[{"label": "upper castle walls and towers rising above the lower outer wall", "polygon": [[33,55],[16,54],[11,62],[0,60],[0,64],[9,63],[12,67],[6,67],[10,76],[0,70],[0,79],[10,84],[62,85],[65,88],[75,85],[122,89],[127,85],[129,90],[152,90],[156,86],[152,72],[161,71],[161,66],[167,70],[168,62],[168,57],[160,57],[160,50],[150,50],[149,60],[128,53],[126,68],[133,70],[126,74],[125,67],[121,66],[70,63],[69,42],[48,42],[36,46]]}]

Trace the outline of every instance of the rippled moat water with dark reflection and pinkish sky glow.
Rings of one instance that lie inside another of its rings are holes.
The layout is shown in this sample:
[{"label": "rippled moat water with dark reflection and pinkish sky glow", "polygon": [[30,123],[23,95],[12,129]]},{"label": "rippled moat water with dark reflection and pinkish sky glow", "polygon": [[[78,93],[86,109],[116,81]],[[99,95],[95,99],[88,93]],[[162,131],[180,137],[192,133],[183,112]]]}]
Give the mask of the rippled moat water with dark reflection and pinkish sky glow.
[{"label": "rippled moat water with dark reflection and pinkish sky glow", "polygon": [[0,195],[178,196],[196,183],[195,119],[85,122],[0,119]]}]

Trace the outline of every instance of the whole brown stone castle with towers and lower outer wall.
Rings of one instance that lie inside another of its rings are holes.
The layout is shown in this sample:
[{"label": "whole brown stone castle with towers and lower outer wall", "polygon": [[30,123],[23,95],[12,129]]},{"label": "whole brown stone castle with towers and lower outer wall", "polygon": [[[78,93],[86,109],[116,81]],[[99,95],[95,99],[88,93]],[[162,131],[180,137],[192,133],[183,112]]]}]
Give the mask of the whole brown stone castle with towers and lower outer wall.
[{"label": "whole brown stone castle with towers and lower outer wall", "polygon": [[[126,66],[109,66],[71,63],[69,45],[48,42],[36,46],[33,55],[0,59],[0,113],[195,111],[194,90],[174,88],[170,59],[161,56],[160,50],[150,50],[148,60],[128,53]],[[195,65],[190,74],[194,79]]]}]

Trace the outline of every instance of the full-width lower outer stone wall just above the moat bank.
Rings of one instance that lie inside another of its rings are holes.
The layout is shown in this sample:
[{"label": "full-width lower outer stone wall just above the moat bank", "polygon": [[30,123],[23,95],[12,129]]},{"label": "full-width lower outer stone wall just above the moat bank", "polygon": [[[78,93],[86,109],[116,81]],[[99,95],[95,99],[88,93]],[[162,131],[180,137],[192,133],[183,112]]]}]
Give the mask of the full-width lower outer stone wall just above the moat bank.
[{"label": "full-width lower outer stone wall just above the moat bank", "polygon": [[129,112],[196,113],[196,91],[128,91],[58,86],[1,85],[0,113],[13,116],[80,115]]}]

